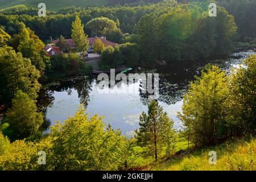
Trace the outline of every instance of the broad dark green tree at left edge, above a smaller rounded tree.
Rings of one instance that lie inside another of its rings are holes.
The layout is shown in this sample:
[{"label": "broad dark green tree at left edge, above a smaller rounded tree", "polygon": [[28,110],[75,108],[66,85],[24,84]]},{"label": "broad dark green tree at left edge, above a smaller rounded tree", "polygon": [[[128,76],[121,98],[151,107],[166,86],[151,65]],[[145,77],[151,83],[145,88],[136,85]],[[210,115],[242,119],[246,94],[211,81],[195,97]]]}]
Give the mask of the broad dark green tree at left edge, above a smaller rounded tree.
[{"label": "broad dark green tree at left edge, above a smaller rounded tree", "polygon": [[31,60],[22,57],[10,47],[0,47],[0,100],[11,105],[11,100],[18,90],[27,93],[35,100],[40,89],[39,71]]}]

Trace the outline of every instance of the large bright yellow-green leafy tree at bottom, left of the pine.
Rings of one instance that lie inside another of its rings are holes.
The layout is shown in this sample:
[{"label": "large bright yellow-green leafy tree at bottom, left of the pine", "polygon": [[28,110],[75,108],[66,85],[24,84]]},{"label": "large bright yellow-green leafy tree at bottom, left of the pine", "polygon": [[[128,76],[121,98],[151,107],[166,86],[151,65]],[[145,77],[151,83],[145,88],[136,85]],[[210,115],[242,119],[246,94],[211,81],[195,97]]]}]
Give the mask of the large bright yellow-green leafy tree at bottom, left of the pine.
[{"label": "large bright yellow-green leafy tree at bottom, left of the pine", "polygon": [[106,127],[102,117],[80,107],[75,117],[52,128],[56,170],[117,170],[124,165],[126,140],[121,132]]}]

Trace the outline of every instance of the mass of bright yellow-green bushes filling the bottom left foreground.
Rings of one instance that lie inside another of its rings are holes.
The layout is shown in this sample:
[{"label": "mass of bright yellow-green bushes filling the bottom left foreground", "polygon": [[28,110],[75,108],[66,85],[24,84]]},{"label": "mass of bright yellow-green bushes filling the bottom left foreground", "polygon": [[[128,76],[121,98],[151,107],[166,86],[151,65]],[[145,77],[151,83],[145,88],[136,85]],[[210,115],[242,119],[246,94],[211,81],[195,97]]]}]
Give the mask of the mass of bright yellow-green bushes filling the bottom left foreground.
[{"label": "mass of bright yellow-green bushes filling the bottom left foreground", "polygon": [[[126,139],[104,125],[102,117],[89,119],[84,109],[38,142],[10,141],[0,133],[0,170],[117,170],[125,165]],[[39,165],[39,151],[46,165]]]}]

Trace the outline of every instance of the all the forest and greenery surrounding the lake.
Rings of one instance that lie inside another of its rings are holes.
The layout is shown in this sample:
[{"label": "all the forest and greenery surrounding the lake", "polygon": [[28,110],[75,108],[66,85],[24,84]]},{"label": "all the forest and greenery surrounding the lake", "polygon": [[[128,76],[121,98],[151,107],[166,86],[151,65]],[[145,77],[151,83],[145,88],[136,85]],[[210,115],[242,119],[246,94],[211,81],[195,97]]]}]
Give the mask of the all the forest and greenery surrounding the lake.
[{"label": "all the forest and greenery surrounding the lake", "polygon": [[[177,113],[183,130],[174,128],[157,100],[140,113],[132,138],[106,125],[101,115],[89,117],[85,103],[75,115],[49,127],[37,105],[39,91],[57,73],[91,76],[92,66],[81,59],[89,37],[118,43],[94,43],[101,69],[154,67],[158,60],[172,66],[256,47],[255,0],[216,1],[216,17],[208,14],[210,1],[112,3],[63,7],[47,11],[45,17],[34,7],[1,11],[0,106],[6,113],[0,127],[0,170],[255,169],[256,55],[229,74],[212,64],[201,69],[189,82],[182,112]],[[67,47],[68,38],[75,48]],[[57,46],[63,53],[46,56],[43,48],[51,39],[60,40]],[[224,142],[231,143],[232,152]],[[220,148],[221,166],[192,162],[205,147]],[[47,155],[46,164],[38,163],[38,152]],[[180,152],[190,153],[181,160],[176,158]],[[241,158],[233,159],[237,154]]]}]

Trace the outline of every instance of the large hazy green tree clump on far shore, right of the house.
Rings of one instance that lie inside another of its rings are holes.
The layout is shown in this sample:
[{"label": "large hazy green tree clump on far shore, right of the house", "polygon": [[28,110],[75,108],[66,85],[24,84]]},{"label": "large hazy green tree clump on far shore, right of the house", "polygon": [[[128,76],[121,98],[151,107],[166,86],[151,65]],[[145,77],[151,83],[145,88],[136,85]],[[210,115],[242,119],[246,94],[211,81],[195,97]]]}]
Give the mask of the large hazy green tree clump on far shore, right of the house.
[{"label": "large hazy green tree clump on far shore, right of the house", "polygon": [[123,45],[103,51],[102,63],[118,67],[228,56],[237,39],[233,16],[218,7],[217,17],[209,17],[208,11],[195,6],[199,7],[177,5],[143,15],[137,23],[137,47],[130,51],[132,63],[122,59]]}]

